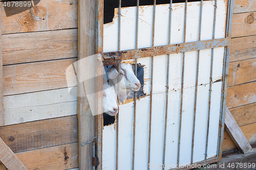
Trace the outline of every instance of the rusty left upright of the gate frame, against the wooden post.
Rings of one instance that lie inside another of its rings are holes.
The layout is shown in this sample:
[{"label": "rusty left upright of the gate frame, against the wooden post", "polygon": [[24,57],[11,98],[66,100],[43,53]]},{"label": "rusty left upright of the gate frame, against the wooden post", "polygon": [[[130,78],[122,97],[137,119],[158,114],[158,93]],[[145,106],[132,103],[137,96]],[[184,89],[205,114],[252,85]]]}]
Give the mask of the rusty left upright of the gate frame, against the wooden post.
[{"label": "rusty left upright of the gate frame, against the wooden post", "polygon": [[[96,12],[96,31],[97,31],[97,36],[96,36],[96,51],[97,53],[102,53],[103,52],[103,4],[104,0],[97,0],[97,12]],[[103,67],[98,67],[98,74],[102,72]],[[97,80],[97,86],[98,87],[98,96],[97,100],[102,99],[102,84],[103,84],[103,77],[98,76]],[[95,138],[95,150],[97,153],[97,158],[98,158],[98,165],[95,167],[97,170],[102,170],[102,130],[103,130],[103,116],[102,116],[102,102],[98,104],[97,112],[100,114],[97,114],[95,117],[95,135],[97,135],[97,138]]]}]

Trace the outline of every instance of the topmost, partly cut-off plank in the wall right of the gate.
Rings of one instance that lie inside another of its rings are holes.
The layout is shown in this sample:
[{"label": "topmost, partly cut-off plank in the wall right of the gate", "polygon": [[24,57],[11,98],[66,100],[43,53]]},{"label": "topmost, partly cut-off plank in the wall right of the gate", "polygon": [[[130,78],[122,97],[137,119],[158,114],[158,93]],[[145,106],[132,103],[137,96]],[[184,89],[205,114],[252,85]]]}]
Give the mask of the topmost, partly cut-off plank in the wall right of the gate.
[{"label": "topmost, partly cut-off plank in the wall right of the gate", "polygon": [[234,0],[233,13],[254,12],[256,2],[251,0]]}]

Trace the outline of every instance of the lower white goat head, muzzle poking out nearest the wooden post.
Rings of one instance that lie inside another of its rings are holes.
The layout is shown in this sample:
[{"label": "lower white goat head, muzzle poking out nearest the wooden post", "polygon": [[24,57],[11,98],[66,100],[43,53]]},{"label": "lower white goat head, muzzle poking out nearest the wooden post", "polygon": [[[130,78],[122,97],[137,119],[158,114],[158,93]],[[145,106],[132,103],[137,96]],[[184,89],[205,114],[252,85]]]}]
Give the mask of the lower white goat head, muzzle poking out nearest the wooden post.
[{"label": "lower white goat head, muzzle poking out nearest the wooden post", "polygon": [[118,113],[117,93],[115,86],[110,86],[103,81],[103,112],[111,116]]}]

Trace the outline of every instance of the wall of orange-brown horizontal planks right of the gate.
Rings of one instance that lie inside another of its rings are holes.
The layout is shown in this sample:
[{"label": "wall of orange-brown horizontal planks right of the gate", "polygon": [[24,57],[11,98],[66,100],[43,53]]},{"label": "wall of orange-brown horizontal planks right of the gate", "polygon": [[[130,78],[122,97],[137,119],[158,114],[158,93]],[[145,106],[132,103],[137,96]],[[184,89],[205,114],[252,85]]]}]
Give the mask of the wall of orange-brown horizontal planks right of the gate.
[{"label": "wall of orange-brown horizontal planks right of the gate", "polygon": [[[256,1],[235,0],[227,107],[247,140],[256,143]],[[226,131],[223,151],[236,148]]]}]

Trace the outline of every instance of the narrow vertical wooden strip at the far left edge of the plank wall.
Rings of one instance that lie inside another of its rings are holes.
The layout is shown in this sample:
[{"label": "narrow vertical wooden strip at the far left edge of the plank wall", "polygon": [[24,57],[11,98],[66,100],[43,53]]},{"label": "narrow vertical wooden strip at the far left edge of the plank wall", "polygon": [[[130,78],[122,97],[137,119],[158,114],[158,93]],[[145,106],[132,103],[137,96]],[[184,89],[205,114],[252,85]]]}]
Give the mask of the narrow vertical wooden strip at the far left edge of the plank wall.
[{"label": "narrow vertical wooden strip at the far left edge of the plank wall", "polygon": [[[1,18],[1,11],[0,11],[0,18]],[[1,33],[1,19],[0,19],[0,126],[5,125],[1,36],[2,36],[2,33]]]}]

